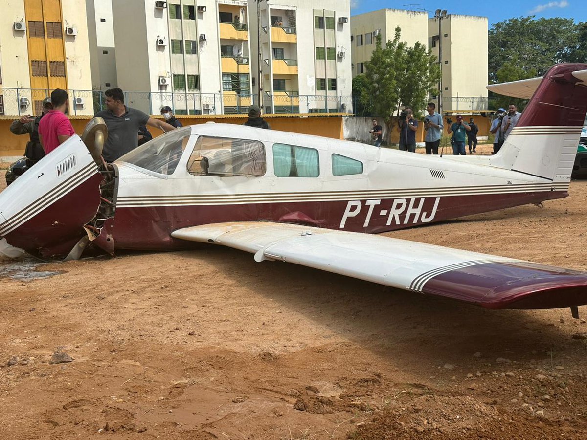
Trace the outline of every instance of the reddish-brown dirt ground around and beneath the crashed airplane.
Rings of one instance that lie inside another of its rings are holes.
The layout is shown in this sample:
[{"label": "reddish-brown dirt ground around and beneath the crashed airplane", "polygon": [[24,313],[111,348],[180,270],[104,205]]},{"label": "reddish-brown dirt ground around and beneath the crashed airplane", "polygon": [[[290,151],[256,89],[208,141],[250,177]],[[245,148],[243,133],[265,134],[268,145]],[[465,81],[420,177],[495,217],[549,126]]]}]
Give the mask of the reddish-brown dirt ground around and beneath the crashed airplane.
[{"label": "reddish-brown dirt ground around and beneath the crashed airplane", "polygon": [[[587,270],[586,191],[389,235]],[[587,323],[569,310],[210,246],[0,260],[0,329],[0,439],[587,438]]]}]

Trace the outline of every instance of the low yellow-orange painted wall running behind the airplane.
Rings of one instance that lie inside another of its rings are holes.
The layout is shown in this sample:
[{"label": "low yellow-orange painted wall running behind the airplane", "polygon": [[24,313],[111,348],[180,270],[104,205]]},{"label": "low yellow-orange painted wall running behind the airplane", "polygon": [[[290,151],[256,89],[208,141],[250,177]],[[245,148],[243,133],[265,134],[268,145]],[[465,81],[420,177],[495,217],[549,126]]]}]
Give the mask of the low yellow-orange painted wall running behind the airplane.
[{"label": "low yellow-orange painted wall running behind the airplane", "polygon": [[[156,116],[160,119],[160,116]],[[208,121],[214,121],[222,124],[242,125],[247,116],[235,115],[227,116],[177,116],[184,126],[194,124],[204,124]],[[72,118],[72,125],[76,133],[81,135],[86,124],[91,117]],[[274,130],[292,131],[302,134],[315,134],[318,136],[332,137],[335,139],[343,138],[343,119],[342,116],[303,116],[303,117],[283,117],[283,116],[264,116],[264,119],[271,125]],[[23,155],[26,143],[29,140],[28,135],[16,136],[9,130],[13,119],[0,117],[0,158],[6,156]],[[157,128],[149,127],[153,137],[163,134]]]}]

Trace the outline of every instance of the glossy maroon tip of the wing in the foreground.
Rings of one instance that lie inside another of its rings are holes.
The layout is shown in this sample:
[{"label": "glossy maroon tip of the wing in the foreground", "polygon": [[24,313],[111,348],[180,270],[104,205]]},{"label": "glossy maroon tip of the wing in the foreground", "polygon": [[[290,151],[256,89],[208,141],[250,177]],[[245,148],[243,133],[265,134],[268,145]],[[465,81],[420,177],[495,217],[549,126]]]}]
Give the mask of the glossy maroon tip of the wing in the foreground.
[{"label": "glossy maroon tip of the wing in the foreground", "polygon": [[556,309],[587,304],[587,273],[529,262],[483,263],[434,276],[421,290],[488,309]]}]

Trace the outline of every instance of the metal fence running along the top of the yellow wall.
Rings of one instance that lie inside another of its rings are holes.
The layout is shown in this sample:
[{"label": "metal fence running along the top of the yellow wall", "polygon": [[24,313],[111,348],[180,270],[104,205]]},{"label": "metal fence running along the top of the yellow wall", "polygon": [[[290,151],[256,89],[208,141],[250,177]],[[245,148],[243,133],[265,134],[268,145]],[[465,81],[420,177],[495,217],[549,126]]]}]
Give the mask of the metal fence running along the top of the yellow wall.
[{"label": "metal fence running along the top of the yellow wall", "polygon": [[[46,89],[11,89],[0,87],[0,115],[37,115],[42,101],[50,95]],[[69,114],[92,116],[106,109],[106,96],[102,90],[68,90]],[[359,97],[349,95],[301,95],[295,90],[264,93],[259,105],[257,94],[186,92],[124,92],[124,102],[147,114],[159,114],[161,107],[169,106],[176,115],[246,114],[251,105],[262,107],[265,114],[306,113],[365,113],[360,110]],[[443,97],[443,110],[485,110],[487,97]]]}]

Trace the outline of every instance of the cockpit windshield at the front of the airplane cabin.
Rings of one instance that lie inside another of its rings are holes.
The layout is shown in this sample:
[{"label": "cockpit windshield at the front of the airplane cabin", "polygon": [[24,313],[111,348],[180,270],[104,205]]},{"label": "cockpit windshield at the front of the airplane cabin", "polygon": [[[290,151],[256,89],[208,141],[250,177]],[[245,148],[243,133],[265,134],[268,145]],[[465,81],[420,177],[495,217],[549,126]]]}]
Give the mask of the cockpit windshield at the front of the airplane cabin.
[{"label": "cockpit windshield at the front of the airplane cabin", "polygon": [[177,128],[129,151],[118,161],[160,174],[173,174],[190,135],[190,127]]}]

